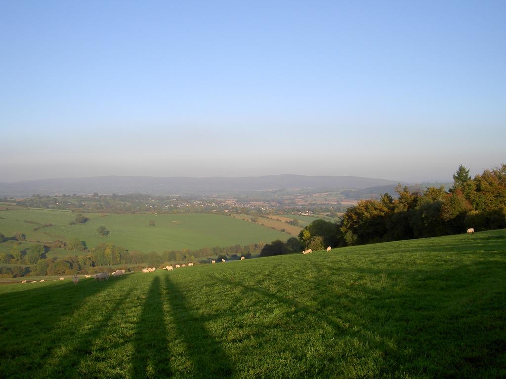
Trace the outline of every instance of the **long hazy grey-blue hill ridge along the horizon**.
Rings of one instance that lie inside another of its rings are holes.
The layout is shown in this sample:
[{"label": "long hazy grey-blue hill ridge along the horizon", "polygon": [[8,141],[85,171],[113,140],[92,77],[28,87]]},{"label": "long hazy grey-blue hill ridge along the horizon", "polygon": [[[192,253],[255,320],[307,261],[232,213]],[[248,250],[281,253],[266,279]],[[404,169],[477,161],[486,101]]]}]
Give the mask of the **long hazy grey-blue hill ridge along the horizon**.
[{"label": "long hazy grey-blue hill ridge along the horizon", "polygon": [[395,185],[387,179],[359,176],[267,175],[247,177],[151,177],[97,176],[58,178],[0,183],[0,196],[26,197],[32,194],[128,194],[150,195],[209,195],[278,188],[367,188]]}]

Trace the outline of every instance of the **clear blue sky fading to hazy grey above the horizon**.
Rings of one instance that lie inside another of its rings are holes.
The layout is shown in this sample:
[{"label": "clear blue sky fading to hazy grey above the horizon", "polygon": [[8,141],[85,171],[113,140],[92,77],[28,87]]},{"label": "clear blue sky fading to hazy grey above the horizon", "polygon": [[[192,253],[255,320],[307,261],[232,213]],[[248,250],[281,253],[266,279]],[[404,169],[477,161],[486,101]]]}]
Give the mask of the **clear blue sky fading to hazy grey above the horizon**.
[{"label": "clear blue sky fading to hazy grey above the horizon", "polygon": [[506,162],[506,2],[0,3],[0,181]]}]

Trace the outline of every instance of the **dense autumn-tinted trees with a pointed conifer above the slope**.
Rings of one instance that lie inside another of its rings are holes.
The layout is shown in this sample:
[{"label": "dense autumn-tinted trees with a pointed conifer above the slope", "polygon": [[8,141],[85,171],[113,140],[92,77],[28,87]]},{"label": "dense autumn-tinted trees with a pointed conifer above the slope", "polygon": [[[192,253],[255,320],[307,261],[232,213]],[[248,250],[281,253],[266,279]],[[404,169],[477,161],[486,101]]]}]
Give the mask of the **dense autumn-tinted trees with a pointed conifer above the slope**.
[{"label": "dense autumn-tinted trees with a pointed conifer above the slope", "polygon": [[398,199],[363,200],[346,211],[339,225],[339,245],[425,238],[506,227],[506,165],[473,179],[459,166],[447,193],[430,187],[422,193],[397,186]]}]

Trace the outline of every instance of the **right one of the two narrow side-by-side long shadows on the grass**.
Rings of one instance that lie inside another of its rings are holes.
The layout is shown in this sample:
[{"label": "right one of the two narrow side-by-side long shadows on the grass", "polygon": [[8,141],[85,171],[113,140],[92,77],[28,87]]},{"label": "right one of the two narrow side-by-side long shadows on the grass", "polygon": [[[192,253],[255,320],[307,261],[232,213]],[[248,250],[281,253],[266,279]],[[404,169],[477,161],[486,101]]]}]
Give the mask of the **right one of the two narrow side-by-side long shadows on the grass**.
[{"label": "right one of the two narrow side-by-side long shadows on the grass", "polygon": [[187,305],[182,291],[165,276],[168,303],[179,333],[182,335],[192,361],[194,378],[225,378],[233,374],[230,360],[221,344],[206,330],[203,320]]}]

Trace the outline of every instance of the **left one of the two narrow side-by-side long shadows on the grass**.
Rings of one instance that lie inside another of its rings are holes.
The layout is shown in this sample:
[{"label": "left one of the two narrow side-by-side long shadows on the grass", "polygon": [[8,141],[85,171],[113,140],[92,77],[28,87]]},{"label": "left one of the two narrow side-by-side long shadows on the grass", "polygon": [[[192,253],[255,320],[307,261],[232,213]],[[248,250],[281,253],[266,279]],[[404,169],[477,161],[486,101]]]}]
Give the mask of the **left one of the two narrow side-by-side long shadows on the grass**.
[{"label": "left one of the two narrow side-by-side long shadows on the grass", "polygon": [[134,337],[133,377],[165,378],[172,375],[167,329],[163,320],[160,277],[151,282]]}]

